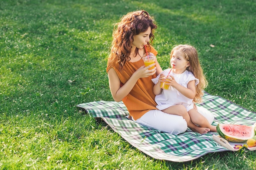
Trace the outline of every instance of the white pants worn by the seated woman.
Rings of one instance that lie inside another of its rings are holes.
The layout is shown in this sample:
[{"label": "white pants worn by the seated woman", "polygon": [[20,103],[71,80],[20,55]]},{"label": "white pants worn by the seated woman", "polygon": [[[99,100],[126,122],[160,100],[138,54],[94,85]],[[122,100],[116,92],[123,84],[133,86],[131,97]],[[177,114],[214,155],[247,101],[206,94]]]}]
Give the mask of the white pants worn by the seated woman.
[{"label": "white pants worn by the seated woman", "polygon": [[[209,110],[203,107],[197,107],[198,112],[206,117],[209,123],[212,124],[214,117]],[[133,118],[132,120],[135,121]],[[182,116],[170,115],[162,112],[161,110],[150,110],[135,122],[142,126],[147,126],[149,128],[160,130],[161,132],[168,132],[174,135],[183,133],[187,129],[187,123]]]}]

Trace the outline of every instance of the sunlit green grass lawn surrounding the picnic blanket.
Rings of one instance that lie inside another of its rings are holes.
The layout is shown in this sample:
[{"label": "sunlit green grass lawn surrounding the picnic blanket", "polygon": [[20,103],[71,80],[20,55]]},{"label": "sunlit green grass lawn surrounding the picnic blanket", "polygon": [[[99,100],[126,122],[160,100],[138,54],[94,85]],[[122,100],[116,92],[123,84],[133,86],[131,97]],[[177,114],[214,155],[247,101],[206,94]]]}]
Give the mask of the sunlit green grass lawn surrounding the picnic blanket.
[{"label": "sunlit green grass lawn surrounding the picnic blanket", "polygon": [[152,159],[76,108],[113,101],[106,73],[113,26],[137,9],[157,21],[163,69],[173,45],[194,45],[206,91],[256,111],[253,0],[2,0],[0,169],[255,169],[248,150],[184,163]]}]

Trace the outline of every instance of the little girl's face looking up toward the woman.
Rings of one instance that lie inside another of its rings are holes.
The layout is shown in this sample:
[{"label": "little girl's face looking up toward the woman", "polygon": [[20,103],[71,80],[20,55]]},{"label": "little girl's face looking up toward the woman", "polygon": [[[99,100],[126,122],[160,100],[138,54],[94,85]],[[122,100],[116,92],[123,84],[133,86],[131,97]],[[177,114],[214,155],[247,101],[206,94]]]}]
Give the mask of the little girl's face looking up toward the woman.
[{"label": "little girl's face looking up toward the woman", "polygon": [[171,66],[173,69],[185,71],[189,66],[189,61],[185,59],[184,55],[180,51],[174,51],[171,56]]}]

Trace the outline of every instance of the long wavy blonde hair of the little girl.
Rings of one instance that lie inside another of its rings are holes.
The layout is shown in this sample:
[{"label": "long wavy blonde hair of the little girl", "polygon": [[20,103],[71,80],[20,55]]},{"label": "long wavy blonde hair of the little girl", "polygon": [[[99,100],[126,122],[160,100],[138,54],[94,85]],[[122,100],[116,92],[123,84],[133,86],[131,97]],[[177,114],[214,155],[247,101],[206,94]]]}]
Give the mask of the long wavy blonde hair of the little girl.
[{"label": "long wavy blonde hair of the little girl", "polygon": [[195,78],[199,79],[199,84],[195,88],[196,91],[193,102],[201,103],[202,96],[204,95],[203,91],[204,88],[207,87],[208,82],[204,77],[203,70],[200,66],[198,52],[196,51],[195,47],[187,44],[180,44],[175,46],[171,51],[171,57],[173,56],[174,51],[180,51],[180,53],[183,54],[185,59],[189,61],[189,66],[186,68],[186,70],[192,72]]}]

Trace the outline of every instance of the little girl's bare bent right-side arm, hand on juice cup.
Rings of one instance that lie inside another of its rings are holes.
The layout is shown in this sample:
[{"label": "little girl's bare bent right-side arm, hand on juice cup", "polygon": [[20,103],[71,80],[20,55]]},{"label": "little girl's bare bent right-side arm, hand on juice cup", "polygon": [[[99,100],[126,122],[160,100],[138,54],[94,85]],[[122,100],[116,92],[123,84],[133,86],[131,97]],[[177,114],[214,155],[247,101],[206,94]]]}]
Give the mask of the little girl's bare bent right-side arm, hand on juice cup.
[{"label": "little girl's bare bent right-side arm, hand on juice cup", "polygon": [[191,80],[187,84],[187,88],[183,87],[182,85],[178,84],[174,77],[170,75],[172,79],[170,79],[168,82],[170,82],[170,85],[173,86],[173,88],[176,88],[177,91],[182,93],[182,95],[188,97],[189,99],[195,98],[195,80]]}]

